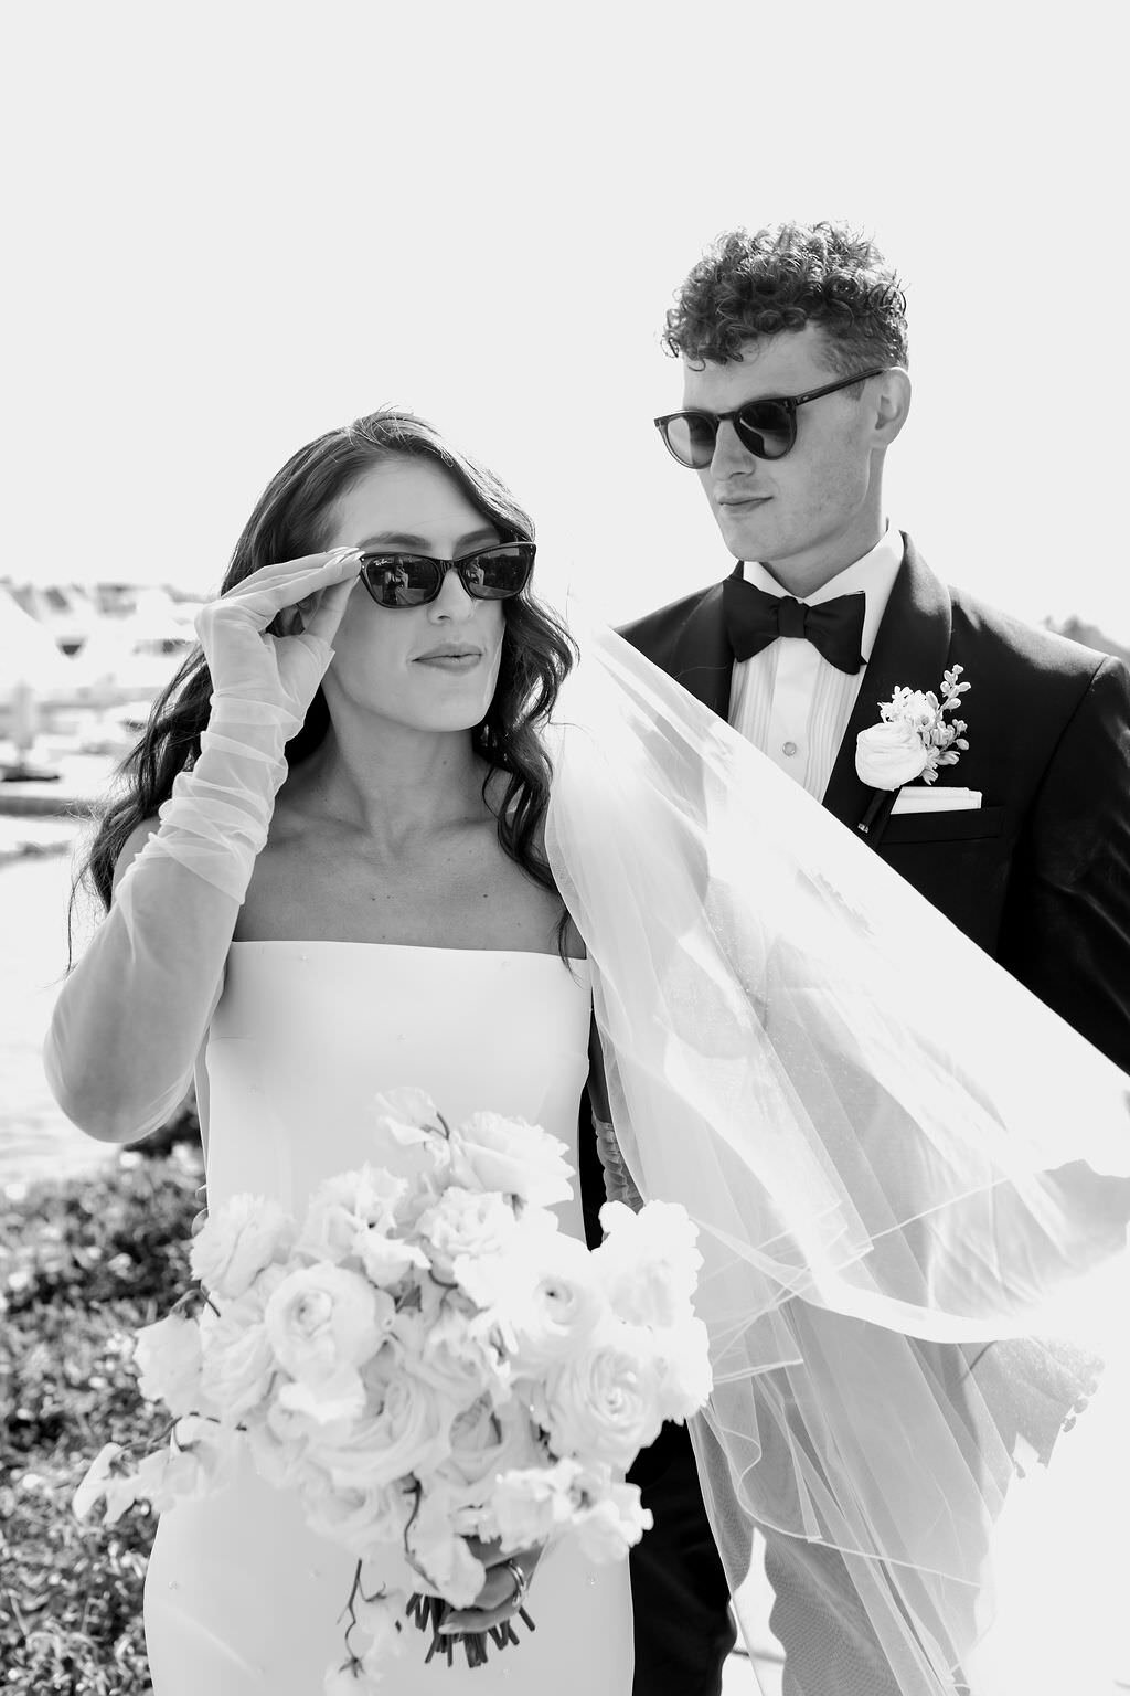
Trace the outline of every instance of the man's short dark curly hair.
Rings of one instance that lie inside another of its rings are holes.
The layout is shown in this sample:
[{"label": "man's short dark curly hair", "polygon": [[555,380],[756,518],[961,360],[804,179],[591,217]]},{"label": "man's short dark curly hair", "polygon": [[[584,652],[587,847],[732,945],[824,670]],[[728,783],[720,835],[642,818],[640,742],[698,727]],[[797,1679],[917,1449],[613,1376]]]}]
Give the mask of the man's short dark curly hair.
[{"label": "man's short dark curly hair", "polygon": [[773,224],[718,236],[676,290],[662,344],[727,365],[761,336],[818,324],[837,377],[906,365],[906,297],[876,244],[847,224]]}]

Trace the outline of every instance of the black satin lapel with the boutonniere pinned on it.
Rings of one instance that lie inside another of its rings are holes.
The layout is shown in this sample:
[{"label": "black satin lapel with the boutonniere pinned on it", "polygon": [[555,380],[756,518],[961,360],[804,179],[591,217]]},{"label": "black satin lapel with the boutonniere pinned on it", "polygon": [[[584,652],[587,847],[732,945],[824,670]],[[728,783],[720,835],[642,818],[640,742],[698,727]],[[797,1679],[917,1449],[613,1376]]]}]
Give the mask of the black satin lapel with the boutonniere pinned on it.
[{"label": "black satin lapel with the boutonniere pinned on it", "polygon": [[862,687],[832,767],[823,806],[856,829],[874,794],[856,773],[856,738],[879,722],[879,702],[895,689],[933,689],[949,663],[952,607],[949,590],[903,536],[903,563],[874,639]]}]

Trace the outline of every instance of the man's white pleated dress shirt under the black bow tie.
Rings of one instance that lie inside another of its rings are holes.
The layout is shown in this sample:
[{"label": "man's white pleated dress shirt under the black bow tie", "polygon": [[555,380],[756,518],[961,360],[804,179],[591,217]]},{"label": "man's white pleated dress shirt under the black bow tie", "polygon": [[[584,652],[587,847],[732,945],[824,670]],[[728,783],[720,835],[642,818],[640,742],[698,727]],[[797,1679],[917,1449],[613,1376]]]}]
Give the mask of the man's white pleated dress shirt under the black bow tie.
[{"label": "man's white pleated dress shirt under the black bow tie", "polygon": [[[751,660],[734,665],[730,724],[817,801],[823,799],[828,787],[847,721],[867,677],[866,661],[871,660],[901,563],[903,538],[898,529],[888,526],[871,553],[856,560],[822,589],[805,595],[805,605],[810,607],[820,605],[822,600],[835,600],[837,595],[854,595],[857,590],[867,597],[861,643],[864,665],[854,677],[828,665],[803,636],[778,636]],[[742,575],[747,583],[764,589],[769,595],[788,594],[757,561],[745,561]],[[876,719],[878,716],[876,702]]]}]

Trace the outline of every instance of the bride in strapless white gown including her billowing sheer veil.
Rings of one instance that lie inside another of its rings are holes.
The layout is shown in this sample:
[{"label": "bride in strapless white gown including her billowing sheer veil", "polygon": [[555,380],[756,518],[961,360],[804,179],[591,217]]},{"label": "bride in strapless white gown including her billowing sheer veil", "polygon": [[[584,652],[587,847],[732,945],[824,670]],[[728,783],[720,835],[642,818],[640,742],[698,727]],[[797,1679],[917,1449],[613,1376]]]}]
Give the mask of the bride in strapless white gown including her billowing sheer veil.
[{"label": "bride in strapless white gown including her billowing sheer veil", "polygon": [[[1057,1437],[1125,1328],[1076,1286],[1125,1245],[1127,1080],[617,638],[574,668],[532,560],[507,490],[408,414],[283,466],[95,841],[108,914],[54,1014],[58,1099],[129,1141],[195,1075],[210,1204],[295,1211],[396,1084],[578,1165],[593,1014],[610,1187],[700,1225],[693,1437],[732,1586],[754,1525],[796,1586],[839,1552],[852,1691],[1035,1693],[1057,1621],[1033,1630],[1016,1560],[1064,1496],[1018,1479],[1084,1452],[1089,1416]],[[1089,1574],[1088,1525],[1055,1523],[1044,1567]],[[539,1630],[476,1689],[627,1696],[623,1567],[488,1560],[466,1623],[530,1582]],[[166,1513],[156,1696],[315,1696],[351,1569],[252,1474]],[[471,1676],[424,1647],[396,1691]]]}]

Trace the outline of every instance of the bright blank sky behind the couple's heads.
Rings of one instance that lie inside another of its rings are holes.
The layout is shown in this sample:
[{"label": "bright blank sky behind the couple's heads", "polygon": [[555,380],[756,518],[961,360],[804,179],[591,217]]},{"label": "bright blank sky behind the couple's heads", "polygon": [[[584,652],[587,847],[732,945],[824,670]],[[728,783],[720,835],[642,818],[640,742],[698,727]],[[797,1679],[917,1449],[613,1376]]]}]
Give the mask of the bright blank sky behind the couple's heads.
[{"label": "bright blank sky behind the couple's heads", "polygon": [[1110,3],[8,7],[0,575],[213,589],[261,487],[381,402],[491,463],[542,587],[730,568],[651,419],[722,229],[871,231],[910,300],[888,510],[950,582],[1130,639]]}]

